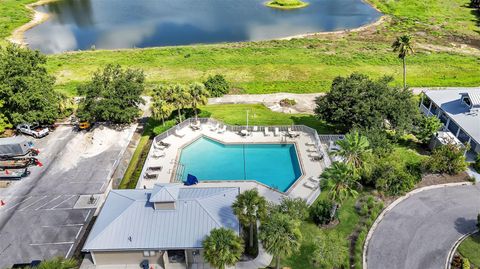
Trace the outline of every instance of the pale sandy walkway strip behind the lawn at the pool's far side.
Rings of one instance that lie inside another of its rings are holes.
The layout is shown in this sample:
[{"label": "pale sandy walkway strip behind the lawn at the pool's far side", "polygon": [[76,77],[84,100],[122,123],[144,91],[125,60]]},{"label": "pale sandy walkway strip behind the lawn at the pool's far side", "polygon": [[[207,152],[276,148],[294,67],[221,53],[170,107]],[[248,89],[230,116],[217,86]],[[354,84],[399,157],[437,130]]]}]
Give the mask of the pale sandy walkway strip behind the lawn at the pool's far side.
[{"label": "pale sandy walkway strip behind the lawn at the pool's far side", "polygon": [[[315,98],[322,95],[325,93],[227,94],[222,97],[210,98],[208,104],[264,104],[275,112],[313,114],[316,106]],[[285,98],[293,99],[297,104],[292,107],[281,107],[279,102]]]}]

